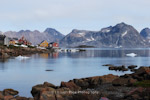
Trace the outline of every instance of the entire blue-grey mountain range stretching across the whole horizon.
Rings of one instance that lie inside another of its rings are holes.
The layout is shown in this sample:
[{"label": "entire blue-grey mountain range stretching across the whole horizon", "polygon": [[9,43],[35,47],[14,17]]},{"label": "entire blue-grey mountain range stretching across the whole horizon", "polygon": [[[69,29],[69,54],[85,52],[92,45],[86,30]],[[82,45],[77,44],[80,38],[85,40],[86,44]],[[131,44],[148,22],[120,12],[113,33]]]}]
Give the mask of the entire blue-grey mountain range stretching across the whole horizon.
[{"label": "entire blue-grey mountain range stretching across the whole horizon", "polygon": [[133,26],[125,23],[102,28],[100,31],[73,29],[66,36],[53,28],[47,28],[44,32],[21,30],[19,32],[8,31],[3,34],[17,38],[24,36],[32,44],[39,44],[43,40],[59,42],[61,47],[77,47],[79,45],[95,47],[150,47],[149,28],[145,28],[139,33]]}]

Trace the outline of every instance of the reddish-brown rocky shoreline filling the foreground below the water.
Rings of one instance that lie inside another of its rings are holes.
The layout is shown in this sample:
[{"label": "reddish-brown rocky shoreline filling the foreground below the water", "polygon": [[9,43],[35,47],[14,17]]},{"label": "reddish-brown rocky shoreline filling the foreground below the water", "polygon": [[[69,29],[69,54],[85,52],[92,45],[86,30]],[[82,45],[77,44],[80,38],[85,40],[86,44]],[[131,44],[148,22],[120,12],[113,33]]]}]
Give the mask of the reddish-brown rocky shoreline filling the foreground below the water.
[{"label": "reddish-brown rocky shoreline filling the foreground below the water", "polygon": [[5,89],[0,91],[0,100],[150,100],[150,67],[121,76],[73,79],[61,82],[60,86],[44,82],[32,87],[33,98],[20,97],[18,93]]}]

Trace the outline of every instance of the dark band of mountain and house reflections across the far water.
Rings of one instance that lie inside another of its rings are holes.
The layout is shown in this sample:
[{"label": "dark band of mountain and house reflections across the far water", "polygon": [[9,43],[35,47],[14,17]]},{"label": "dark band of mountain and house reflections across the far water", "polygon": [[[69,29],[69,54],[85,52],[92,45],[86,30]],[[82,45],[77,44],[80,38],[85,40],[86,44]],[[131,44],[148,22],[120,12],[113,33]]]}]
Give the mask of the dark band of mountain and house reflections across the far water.
[{"label": "dark band of mountain and house reflections across the far water", "polygon": [[51,54],[40,54],[42,58],[58,58],[58,57],[71,57],[71,58],[88,58],[88,57],[127,57],[126,54],[135,53],[137,57],[149,57],[149,49],[87,49],[84,52],[54,52]]}]

